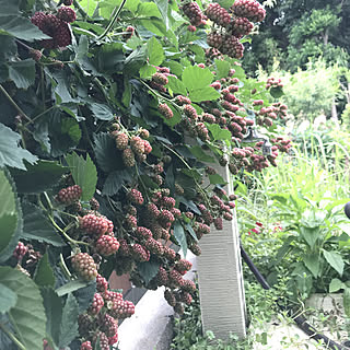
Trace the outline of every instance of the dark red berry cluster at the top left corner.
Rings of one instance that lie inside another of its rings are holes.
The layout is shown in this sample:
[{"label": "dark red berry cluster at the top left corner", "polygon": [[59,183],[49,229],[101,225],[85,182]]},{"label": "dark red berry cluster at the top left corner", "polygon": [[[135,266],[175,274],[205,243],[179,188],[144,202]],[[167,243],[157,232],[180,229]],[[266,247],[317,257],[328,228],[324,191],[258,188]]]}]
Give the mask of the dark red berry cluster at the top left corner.
[{"label": "dark red berry cluster at the top left corner", "polygon": [[36,12],[31,21],[51,39],[40,40],[40,46],[47,49],[66,47],[72,43],[69,23],[74,22],[77,14],[73,9],[62,7],[57,14]]}]

